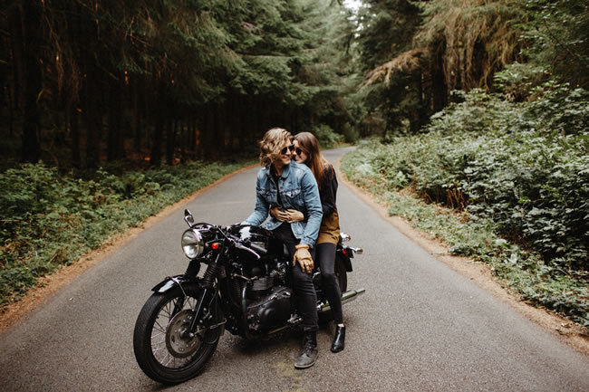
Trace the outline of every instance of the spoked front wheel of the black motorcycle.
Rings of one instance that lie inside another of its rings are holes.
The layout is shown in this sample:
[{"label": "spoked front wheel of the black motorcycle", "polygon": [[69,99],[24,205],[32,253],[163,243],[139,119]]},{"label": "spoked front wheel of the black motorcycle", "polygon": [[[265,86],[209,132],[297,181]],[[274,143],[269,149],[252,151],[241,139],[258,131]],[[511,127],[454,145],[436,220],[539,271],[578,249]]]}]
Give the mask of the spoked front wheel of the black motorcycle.
[{"label": "spoked front wheel of the black motorcycle", "polygon": [[143,305],[133,334],[133,349],[140,368],[150,378],[177,384],[198,376],[217,349],[222,326],[217,325],[215,302],[212,310],[203,305],[194,335],[189,326],[198,301],[197,287],[177,287],[155,293]]}]

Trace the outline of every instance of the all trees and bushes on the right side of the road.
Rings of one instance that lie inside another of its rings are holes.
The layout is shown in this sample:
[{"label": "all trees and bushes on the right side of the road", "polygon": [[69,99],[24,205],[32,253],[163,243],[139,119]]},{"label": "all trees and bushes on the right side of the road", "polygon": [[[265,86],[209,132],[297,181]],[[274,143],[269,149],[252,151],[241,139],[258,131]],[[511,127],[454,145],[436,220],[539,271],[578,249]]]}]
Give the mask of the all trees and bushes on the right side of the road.
[{"label": "all trees and bushes on the right side of the road", "polygon": [[586,333],[587,2],[363,3],[366,140],[343,172]]}]

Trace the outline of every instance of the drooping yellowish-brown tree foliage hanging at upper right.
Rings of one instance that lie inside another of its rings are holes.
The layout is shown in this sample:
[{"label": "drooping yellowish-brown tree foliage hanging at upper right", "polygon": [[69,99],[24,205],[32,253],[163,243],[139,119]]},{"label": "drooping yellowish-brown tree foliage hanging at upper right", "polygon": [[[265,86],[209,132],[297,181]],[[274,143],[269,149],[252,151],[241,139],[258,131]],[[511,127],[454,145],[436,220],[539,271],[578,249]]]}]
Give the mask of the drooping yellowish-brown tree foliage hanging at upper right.
[{"label": "drooping yellowish-brown tree foliage hanging at upper right", "polygon": [[450,90],[488,88],[493,74],[523,46],[517,24],[526,21],[521,1],[439,0],[425,5],[416,43],[439,58]]}]

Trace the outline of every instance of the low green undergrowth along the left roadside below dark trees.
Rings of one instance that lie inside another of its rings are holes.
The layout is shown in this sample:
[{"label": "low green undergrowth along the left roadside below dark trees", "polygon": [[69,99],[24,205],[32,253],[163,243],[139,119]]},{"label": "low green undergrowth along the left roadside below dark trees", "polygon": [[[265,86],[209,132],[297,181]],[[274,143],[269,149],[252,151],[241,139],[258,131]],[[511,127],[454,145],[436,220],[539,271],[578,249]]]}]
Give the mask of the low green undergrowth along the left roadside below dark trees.
[{"label": "low green undergrowth along the left roadside below dark trees", "polygon": [[0,176],[0,307],[112,235],[188,196],[241,164],[194,161],[90,179],[60,176],[43,163]]}]

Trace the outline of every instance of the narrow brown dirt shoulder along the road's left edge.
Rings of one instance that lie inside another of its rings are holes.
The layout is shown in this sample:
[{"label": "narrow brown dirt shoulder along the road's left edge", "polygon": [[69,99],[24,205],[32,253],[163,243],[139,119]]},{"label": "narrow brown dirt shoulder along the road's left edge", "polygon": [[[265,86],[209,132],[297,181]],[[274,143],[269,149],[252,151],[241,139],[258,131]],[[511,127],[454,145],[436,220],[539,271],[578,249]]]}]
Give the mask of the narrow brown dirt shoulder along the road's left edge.
[{"label": "narrow brown dirt shoulder along the road's left edge", "polygon": [[116,252],[119,248],[121,248],[121,246],[129,243],[131,239],[135,238],[143,230],[149,228],[151,225],[157,224],[159,220],[170,215],[173,211],[179,208],[179,206],[185,205],[192,198],[207,192],[208,189],[213,186],[217,186],[218,184],[226,181],[228,178],[256,166],[257,164],[250,165],[248,167],[242,167],[233,173],[229,173],[226,176],[217,179],[217,181],[214,183],[198,189],[198,191],[194,192],[192,195],[186,196],[179,202],[165,207],[159,211],[158,214],[150,216],[148,219],[143,221],[140,226],[130,228],[125,233],[112,236],[99,249],[82,254],[80,259],[78,259],[76,262],[70,265],[65,265],[56,272],[53,272],[51,275],[47,275],[39,279],[39,282],[36,284],[36,286],[27,292],[21,301],[9,304],[0,313],[0,333],[13,327],[16,323],[26,317],[31,311],[34,311],[43,305],[43,303],[49,300],[49,298],[51,298],[51,296],[55,292],[58,292],[63,286],[72,282],[75,278],[80,276],[83,272],[87,271],[93,265],[101,263],[102,260]]}]

